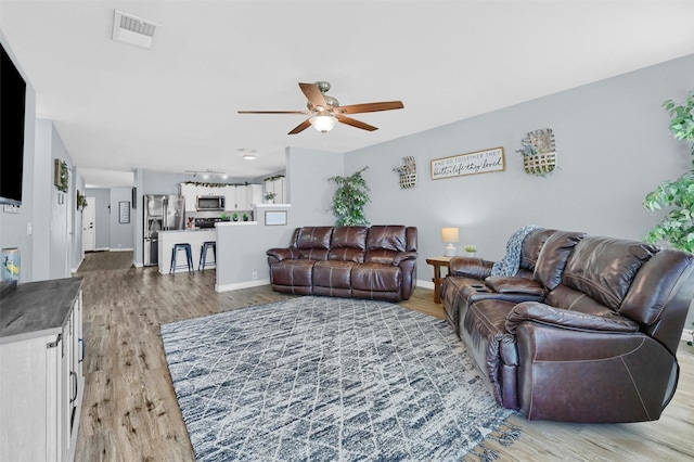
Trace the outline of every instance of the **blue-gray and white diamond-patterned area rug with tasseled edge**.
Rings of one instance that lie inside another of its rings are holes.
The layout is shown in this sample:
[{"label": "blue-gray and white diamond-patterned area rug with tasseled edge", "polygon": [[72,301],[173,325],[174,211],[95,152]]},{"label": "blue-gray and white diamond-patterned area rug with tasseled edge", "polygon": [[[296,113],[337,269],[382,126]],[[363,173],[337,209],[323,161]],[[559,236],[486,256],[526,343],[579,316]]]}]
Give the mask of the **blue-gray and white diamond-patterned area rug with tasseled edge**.
[{"label": "blue-gray and white diamond-patterned area rug with tasseled edge", "polygon": [[162,336],[198,461],[458,461],[517,437],[448,324],[389,303],[305,296]]}]

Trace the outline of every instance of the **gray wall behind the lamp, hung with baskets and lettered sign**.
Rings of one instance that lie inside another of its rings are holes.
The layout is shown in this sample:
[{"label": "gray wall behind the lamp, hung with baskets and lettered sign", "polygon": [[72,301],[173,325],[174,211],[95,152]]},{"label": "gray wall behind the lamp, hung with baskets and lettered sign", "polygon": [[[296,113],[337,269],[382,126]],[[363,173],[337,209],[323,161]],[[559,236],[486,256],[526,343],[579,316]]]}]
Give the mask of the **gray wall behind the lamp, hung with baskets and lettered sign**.
[{"label": "gray wall behind the lamp, hung with baskets and lettered sign", "polygon": [[[498,259],[516,229],[535,223],[591,234],[641,240],[664,213],[642,207],[646,193],[691,166],[685,143],[670,137],[663,101],[692,90],[694,55],[602,80],[345,155],[346,172],[364,165],[374,223],[420,230],[417,279],[430,284],[427,256],[441,255],[440,228],[459,227],[461,242]],[[406,101],[407,106],[407,101]],[[524,172],[520,139],[552,128],[558,170]],[[432,180],[430,161],[494,146],[506,170]],[[391,171],[402,156],[417,161],[417,185],[400,190]],[[318,180],[316,181],[318,182]],[[690,311],[687,326],[694,320]]]}]

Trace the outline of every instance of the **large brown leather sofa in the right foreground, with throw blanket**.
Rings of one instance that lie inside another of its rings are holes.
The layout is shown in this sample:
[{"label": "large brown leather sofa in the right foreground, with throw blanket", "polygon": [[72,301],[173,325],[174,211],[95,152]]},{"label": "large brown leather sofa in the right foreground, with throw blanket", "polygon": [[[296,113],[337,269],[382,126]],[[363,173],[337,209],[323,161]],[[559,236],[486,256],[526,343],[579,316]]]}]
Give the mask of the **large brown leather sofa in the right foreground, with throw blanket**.
[{"label": "large brown leather sofa in the right foreground, with throw blanket", "polygon": [[500,405],[528,420],[659,419],[679,378],[694,256],[543,230],[524,241],[517,277],[453,260],[447,319]]}]

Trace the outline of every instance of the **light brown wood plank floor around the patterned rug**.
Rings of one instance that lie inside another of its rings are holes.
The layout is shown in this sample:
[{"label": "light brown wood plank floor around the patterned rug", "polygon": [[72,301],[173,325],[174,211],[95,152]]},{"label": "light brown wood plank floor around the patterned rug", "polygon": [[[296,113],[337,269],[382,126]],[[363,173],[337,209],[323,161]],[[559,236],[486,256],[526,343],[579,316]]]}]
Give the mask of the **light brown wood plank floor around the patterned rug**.
[{"label": "light brown wood plank floor around the patterned rug", "polygon": [[[159,325],[290,296],[269,286],[219,294],[214,270],[171,277],[131,262],[127,252],[87,254],[77,273],[85,277],[87,352],[76,460],[192,461]],[[401,305],[442,318],[430,290],[416,288]],[[502,461],[694,460],[694,348],[682,343],[678,358],[680,385],[659,421],[584,425],[514,415],[520,438],[509,448],[488,446]]]}]

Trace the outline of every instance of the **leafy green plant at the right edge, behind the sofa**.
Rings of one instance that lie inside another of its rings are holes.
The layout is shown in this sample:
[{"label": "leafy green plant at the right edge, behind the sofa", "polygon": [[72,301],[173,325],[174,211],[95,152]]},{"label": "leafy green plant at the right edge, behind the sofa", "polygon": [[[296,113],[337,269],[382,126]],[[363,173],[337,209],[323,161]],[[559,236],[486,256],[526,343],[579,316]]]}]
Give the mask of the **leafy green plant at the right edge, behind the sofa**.
[{"label": "leafy green plant at the right edge, behind the sofa", "polygon": [[[694,91],[683,104],[672,100],[663,103],[670,113],[670,133],[677,140],[694,142]],[[692,168],[674,181],[665,181],[646,195],[643,206],[648,210],[672,207],[648,233],[648,242],[668,241],[672,247],[694,253],[694,144],[691,146]]]}]

